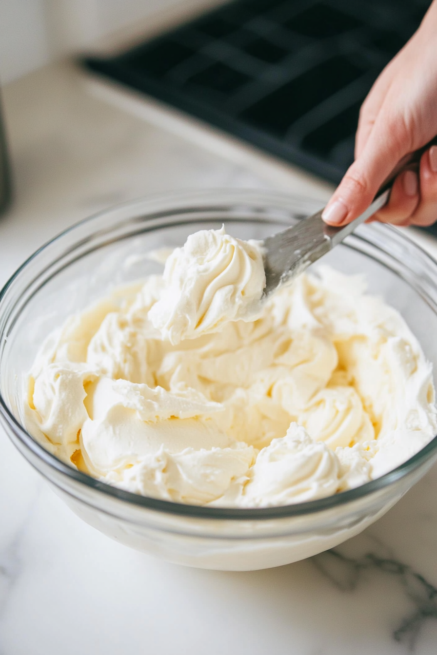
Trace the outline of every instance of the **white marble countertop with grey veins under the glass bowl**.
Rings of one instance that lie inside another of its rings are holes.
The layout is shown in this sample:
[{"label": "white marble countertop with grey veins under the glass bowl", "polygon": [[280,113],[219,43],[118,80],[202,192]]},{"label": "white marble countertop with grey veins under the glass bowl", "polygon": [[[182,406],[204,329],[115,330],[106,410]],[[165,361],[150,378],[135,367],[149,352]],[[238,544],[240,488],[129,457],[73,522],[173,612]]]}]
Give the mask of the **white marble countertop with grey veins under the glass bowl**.
[{"label": "white marble countertop with grey veins under the glass bowl", "polygon": [[[0,286],[54,234],[150,192],[276,187],[320,204],[330,192],[155,103],[90,85],[71,64],[10,84],[3,100],[15,201],[0,218]],[[335,552],[225,573],[112,542],[67,509],[1,429],[0,453],[1,655],[437,652],[437,468]]]}]

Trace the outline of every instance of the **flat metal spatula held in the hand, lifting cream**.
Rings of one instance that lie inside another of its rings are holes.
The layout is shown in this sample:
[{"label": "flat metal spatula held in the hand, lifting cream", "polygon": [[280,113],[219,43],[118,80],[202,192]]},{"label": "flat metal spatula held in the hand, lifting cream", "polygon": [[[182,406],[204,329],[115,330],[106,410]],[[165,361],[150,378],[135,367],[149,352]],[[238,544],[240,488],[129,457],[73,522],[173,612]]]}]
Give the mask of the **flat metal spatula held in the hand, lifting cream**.
[{"label": "flat metal spatula held in the hand, lifting cream", "polygon": [[419,171],[421,155],[430,145],[437,143],[437,137],[423,148],[406,155],[379,189],[375,200],[363,214],[344,227],[332,227],[322,220],[322,211],[303,219],[294,227],[268,236],[264,240],[265,295],[290,282],[305,271],[310,264],[338,246],[358,225],[364,223],[389,200],[396,176],[404,170]]}]

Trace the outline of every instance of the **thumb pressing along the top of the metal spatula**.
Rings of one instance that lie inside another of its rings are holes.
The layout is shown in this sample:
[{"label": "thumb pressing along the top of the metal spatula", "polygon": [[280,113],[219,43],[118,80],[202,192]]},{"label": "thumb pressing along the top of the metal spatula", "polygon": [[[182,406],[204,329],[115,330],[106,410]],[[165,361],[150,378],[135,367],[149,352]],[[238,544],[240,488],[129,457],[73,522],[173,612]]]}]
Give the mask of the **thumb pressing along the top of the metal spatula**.
[{"label": "thumb pressing along the top of the metal spatula", "polygon": [[381,121],[373,126],[362,153],[347,170],[322,213],[329,225],[346,225],[371,204],[379,187],[398,161],[409,152],[409,140]]}]

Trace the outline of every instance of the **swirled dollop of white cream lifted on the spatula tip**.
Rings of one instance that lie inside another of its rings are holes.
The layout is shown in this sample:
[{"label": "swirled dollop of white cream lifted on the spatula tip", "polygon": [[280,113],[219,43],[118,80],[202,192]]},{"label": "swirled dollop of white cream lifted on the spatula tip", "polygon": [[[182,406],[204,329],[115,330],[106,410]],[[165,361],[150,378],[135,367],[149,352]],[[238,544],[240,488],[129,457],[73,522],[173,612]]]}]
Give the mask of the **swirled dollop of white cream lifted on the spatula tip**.
[{"label": "swirled dollop of white cream lifted on the spatula tip", "polygon": [[265,287],[261,248],[229,236],[224,226],[202,230],[168,257],[164,283],[149,318],[173,345],[227,321],[252,320]]}]

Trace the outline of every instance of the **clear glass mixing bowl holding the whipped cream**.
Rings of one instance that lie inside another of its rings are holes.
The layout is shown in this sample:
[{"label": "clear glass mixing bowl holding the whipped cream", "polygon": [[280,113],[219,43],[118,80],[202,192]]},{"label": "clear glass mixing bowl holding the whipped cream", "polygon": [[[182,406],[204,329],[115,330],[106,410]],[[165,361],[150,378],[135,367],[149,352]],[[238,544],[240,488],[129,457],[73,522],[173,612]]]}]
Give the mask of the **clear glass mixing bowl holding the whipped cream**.
[{"label": "clear glass mixing bowl holding the whipped cream", "polygon": [[[255,191],[209,191],[146,198],[102,212],[38,250],[0,294],[0,416],[22,455],[67,505],[111,538],[169,561],[245,571],[288,564],[332,548],[385,514],[437,459],[437,438],[395,470],[328,498],[261,509],[208,508],[146,498],[86,476],[50,455],[26,432],[22,380],[42,339],[72,312],[113,286],[162,270],[145,257],[180,246],[202,228],[263,238],[318,204]],[[387,225],[360,227],[324,257],[339,271],[364,273],[437,364],[437,263]]]}]

